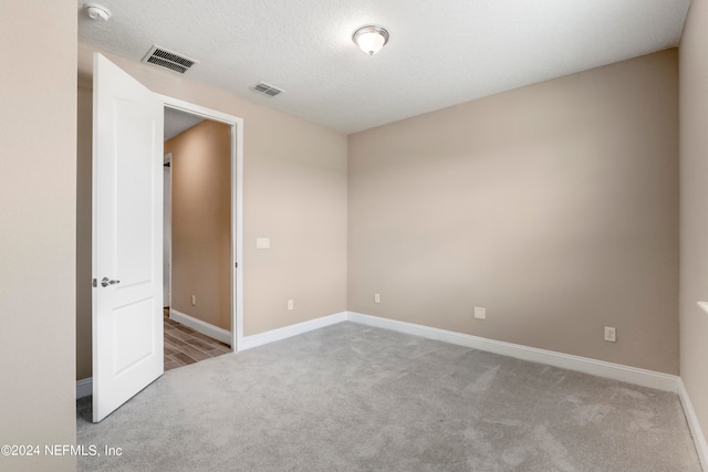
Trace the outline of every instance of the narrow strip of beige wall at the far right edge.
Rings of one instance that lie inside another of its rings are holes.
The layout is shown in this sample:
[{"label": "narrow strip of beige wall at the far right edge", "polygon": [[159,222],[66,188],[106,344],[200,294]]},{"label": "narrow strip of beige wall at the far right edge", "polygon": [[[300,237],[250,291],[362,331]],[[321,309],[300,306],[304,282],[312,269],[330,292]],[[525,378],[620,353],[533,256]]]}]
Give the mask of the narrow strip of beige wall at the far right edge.
[{"label": "narrow strip of beige wall at the far right edge", "polygon": [[708,433],[708,3],[694,0],[680,46],[681,378]]}]

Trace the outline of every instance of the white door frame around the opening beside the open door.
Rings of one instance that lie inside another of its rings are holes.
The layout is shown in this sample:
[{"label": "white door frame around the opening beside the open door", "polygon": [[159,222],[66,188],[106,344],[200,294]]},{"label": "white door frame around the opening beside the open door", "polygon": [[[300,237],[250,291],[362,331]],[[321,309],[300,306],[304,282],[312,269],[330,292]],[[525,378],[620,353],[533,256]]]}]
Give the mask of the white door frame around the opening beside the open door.
[{"label": "white door frame around the opening beside the open door", "polygon": [[231,127],[231,349],[243,339],[243,118],[157,94],[165,106]]}]

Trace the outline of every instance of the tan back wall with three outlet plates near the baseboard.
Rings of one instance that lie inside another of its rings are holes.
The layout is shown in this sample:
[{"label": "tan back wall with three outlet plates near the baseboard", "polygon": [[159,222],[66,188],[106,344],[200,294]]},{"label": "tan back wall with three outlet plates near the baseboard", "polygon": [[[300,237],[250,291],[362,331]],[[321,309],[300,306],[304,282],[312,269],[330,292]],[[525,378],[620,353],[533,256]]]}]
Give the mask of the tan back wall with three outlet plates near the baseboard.
[{"label": "tan back wall with three outlet plates near the baseboard", "polygon": [[669,50],[351,135],[348,308],[678,374],[677,81]]}]

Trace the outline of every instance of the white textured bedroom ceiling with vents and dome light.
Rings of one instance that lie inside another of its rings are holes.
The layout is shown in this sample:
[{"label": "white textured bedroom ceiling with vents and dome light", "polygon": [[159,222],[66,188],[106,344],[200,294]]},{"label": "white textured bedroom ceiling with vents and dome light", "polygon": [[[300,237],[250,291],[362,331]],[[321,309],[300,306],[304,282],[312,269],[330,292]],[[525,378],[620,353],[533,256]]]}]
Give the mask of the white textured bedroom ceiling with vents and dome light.
[{"label": "white textured bedroom ceiling with vents and dome light", "polygon": [[[191,80],[354,133],[676,46],[690,0],[96,2],[113,18],[79,0],[80,42],[135,61],[157,44],[200,62]],[[367,23],[391,33],[374,56],[352,42]]]}]

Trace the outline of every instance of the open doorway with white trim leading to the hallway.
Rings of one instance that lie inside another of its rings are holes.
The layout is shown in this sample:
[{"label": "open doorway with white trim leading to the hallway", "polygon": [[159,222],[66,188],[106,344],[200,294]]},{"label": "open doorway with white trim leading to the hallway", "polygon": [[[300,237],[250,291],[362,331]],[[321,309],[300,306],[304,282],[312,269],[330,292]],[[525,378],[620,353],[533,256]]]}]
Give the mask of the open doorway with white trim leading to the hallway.
[{"label": "open doorway with white trim leading to the hallway", "polygon": [[237,349],[241,123],[165,99],[165,370]]}]

